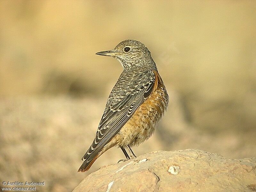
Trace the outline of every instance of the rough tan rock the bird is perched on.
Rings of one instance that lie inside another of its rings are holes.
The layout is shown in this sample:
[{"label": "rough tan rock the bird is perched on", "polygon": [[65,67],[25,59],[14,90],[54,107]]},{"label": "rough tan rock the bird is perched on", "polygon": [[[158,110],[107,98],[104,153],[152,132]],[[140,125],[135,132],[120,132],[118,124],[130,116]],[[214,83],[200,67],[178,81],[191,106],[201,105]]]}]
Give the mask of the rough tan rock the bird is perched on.
[{"label": "rough tan rock the bird is perched on", "polygon": [[202,150],[154,151],[101,167],[73,192],[256,191],[256,158],[228,159]]}]

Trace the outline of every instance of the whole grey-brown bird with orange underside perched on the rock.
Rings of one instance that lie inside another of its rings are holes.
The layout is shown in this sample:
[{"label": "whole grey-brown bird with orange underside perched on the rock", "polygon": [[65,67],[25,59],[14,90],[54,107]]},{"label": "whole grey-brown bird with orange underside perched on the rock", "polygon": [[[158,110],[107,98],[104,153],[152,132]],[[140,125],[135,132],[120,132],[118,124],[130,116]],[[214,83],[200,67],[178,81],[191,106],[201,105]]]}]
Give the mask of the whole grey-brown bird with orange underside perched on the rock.
[{"label": "whole grey-brown bird with orange underside perched on the rock", "polygon": [[84,162],[78,172],[87,171],[114,146],[121,148],[126,160],[136,158],[131,146],[139,145],[154,133],[169,103],[156,63],[143,43],[124,40],[114,49],[96,54],[117,59],[123,71],[110,92],[95,139],[82,157]]}]

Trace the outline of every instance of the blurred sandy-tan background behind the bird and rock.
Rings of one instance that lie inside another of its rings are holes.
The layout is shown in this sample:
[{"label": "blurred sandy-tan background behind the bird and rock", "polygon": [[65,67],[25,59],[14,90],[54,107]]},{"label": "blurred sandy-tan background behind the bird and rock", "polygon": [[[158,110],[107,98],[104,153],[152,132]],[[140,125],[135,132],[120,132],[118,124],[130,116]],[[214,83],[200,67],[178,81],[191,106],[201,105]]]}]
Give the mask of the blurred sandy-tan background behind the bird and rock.
[{"label": "blurred sandy-tan background behind the bird and rock", "polygon": [[256,156],[256,1],[0,1],[0,186],[72,191],[122,67],[95,55],[125,39],[151,51],[169,109],[137,156],[195,148]]}]

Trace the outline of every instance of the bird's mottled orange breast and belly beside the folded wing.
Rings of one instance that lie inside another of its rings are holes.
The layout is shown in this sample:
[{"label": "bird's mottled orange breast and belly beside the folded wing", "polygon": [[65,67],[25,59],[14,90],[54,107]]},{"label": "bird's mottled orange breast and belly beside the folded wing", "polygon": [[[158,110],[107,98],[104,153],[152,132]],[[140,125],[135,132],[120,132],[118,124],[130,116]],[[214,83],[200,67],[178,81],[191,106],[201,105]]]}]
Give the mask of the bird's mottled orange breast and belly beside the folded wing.
[{"label": "bird's mottled orange breast and belly beside the folded wing", "polygon": [[152,93],[113,137],[112,142],[116,142],[119,146],[139,145],[154,133],[169,102],[164,83],[160,75],[158,73],[156,75],[157,81]]}]

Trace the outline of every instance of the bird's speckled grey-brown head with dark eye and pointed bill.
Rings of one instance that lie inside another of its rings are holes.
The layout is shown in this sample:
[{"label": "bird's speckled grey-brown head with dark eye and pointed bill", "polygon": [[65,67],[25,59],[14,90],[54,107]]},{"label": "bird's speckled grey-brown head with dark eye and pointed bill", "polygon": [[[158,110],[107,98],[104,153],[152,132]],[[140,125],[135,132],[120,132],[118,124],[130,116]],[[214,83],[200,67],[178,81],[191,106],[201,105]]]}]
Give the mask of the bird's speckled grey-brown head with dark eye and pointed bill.
[{"label": "bird's speckled grey-brown head with dark eye and pointed bill", "polygon": [[153,69],[156,64],[151,57],[148,48],[141,42],[135,40],[124,40],[112,50],[101,51],[97,55],[112,56],[116,58],[124,69]]}]

